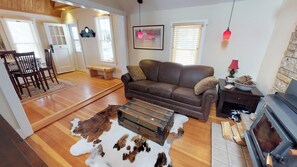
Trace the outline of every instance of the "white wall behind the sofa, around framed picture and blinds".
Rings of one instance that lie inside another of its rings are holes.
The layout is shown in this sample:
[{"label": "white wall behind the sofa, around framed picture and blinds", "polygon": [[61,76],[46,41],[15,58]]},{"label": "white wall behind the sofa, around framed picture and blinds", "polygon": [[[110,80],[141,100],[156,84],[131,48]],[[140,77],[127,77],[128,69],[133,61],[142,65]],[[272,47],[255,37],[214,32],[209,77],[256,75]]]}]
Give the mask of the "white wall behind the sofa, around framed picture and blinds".
[{"label": "white wall behind the sofa, around framed picture and blinds", "polygon": [[132,26],[138,25],[138,13],[134,13],[128,24],[130,64],[137,65],[148,58],[169,61],[171,24],[208,20],[201,64],[214,67],[215,76],[223,78],[228,75],[231,60],[238,59],[240,69],[236,75],[251,75],[256,80],[282,1],[236,1],[230,27],[232,36],[226,48],[222,47],[222,33],[228,25],[232,2],[141,13],[142,25],[165,25],[163,51],[133,49]]}]

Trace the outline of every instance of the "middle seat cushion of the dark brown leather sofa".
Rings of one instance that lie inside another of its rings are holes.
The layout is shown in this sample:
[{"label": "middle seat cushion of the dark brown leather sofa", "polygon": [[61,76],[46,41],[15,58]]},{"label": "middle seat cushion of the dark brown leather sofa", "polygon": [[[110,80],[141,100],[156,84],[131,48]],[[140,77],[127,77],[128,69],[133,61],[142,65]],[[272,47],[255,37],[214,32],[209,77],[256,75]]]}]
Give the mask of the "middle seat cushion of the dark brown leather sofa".
[{"label": "middle seat cushion of the dark brown leather sofa", "polygon": [[152,95],[171,99],[172,92],[177,88],[176,85],[166,83],[155,83],[149,86],[148,92]]}]

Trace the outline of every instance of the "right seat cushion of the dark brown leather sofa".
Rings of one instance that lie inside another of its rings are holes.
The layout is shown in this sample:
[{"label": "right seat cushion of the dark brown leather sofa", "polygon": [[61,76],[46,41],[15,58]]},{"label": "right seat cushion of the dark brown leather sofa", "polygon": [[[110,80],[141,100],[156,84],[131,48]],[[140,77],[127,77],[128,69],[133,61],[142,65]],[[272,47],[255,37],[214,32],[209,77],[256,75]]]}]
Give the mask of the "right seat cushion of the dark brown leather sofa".
[{"label": "right seat cushion of the dark brown leather sofa", "polygon": [[193,88],[178,87],[172,92],[172,99],[191,104],[194,106],[201,106],[202,96],[196,96]]}]

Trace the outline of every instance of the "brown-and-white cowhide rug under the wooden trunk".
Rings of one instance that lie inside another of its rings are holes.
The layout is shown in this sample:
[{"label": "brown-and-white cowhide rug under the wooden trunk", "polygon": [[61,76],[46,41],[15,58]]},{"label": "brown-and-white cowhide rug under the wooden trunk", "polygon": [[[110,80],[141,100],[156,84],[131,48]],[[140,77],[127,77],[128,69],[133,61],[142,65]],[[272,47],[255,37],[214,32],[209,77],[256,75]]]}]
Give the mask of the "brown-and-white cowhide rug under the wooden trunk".
[{"label": "brown-and-white cowhide rug under the wooden trunk", "polygon": [[109,105],[88,120],[72,120],[71,133],[81,140],[70,148],[71,154],[90,153],[86,164],[92,167],[172,166],[170,146],[175,139],[183,136],[183,124],[188,118],[174,115],[174,125],[164,146],[161,146],[120,126],[116,113],[119,107]]}]

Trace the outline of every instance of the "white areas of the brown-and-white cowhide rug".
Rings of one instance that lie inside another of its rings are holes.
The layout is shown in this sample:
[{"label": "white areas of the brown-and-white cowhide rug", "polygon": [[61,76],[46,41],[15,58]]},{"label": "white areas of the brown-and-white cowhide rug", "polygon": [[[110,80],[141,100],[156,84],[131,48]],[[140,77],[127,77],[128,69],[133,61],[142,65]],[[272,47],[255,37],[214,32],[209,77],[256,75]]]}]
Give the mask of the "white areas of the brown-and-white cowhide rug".
[{"label": "white areas of the brown-and-white cowhide rug", "polygon": [[[74,119],[71,121],[73,125],[71,128],[71,133],[72,135],[81,137],[80,134],[73,133],[73,130],[78,126],[79,121],[79,119]],[[81,137],[81,140],[70,148],[70,152],[74,156],[90,153],[90,156],[86,160],[86,165],[91,167],[152,167],[155,166],[158,155],[160,157],[159,153],[165,153],[167,158],[166,164],[164,163],[165,165],[158,165],[158,167],[171,166],[169,150],[172,144],[172,140],[170,140],[170,138],[172,139],[172,137],[170,136],[178,134],[178,129],[182,128],[183,124],[187,121],[188,117],[175,114],[174,125],[170,131],[173,133],[169,134],[164,146],[160,146],[155,142],[147,140],[146,143],[150,148],[150,151],[147,152],[144,150],[137,153],[133,162],[130,162],[129,159],[123,160],[123,154],[129,154],[129,152],[131,153],[133,151],[135,142],[131,141],[131,139],[137,136],[137,134],[120,126],[117,120],[111,120],[112,125],[110,130],[108,132],[103,132],[103,134],[99,137],[99,143],[93,144],[93,142],[87,142],[87,139]],[[114,145],[124,135],[128,135],[128,138],[126,139],[126,145],[118,151],[117,148],[114,148]],[[128,146],[130,146],[130,149]]]}]

